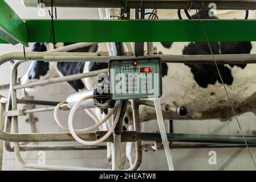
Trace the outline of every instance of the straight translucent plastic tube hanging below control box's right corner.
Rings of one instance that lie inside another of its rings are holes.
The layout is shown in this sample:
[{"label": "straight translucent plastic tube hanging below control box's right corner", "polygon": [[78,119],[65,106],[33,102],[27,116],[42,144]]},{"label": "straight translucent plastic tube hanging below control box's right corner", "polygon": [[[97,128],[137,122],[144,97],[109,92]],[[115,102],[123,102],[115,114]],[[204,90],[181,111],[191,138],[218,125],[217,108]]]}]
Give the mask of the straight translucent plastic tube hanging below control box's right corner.
[{"label": "straight translucent plastic tube hanging below control box's right corner", "polygon": [[167,139],[167,134],[166,134],[165,125],[164,125],[164,118],[162,117],[162,110],[161,110],[159,98],[154,98],[154,102],[155,102],[155,108],[156,108],[157,122],[159,124],[159,130],[162,138],[162,144],[164,145],[168,167],[170,171],[174,171],[172,154],[170,152],[169,142]]}]

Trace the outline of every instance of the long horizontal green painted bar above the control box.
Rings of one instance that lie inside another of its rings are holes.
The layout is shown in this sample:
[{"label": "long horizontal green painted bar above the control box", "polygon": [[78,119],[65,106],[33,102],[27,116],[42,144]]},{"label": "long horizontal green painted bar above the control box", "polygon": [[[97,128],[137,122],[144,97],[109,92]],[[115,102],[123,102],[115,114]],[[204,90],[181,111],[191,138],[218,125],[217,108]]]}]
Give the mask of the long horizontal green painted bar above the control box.
[{"label": "long horizontal green painted bar above the control box", "polygon": [[[256,41],[256,20],[202,20],[210,41]],[[51,20],[26,20],[29,42],[52,42]],[[199,20],[54,20],[56,42],[201,42]]]}]

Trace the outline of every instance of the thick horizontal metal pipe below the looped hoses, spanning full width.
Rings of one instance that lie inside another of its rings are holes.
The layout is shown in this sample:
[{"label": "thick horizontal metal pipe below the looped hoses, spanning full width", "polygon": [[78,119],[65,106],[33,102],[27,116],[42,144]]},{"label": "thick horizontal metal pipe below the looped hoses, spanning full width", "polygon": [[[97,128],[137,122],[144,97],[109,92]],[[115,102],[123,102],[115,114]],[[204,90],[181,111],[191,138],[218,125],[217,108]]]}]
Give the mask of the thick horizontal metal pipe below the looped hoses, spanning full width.
[{"label": "thick horizontal metal pipe below the looped hoses, spanning full width", "polygon": [[[92,141],[96,135],[106,134],[107,131],[97,133],[82,133],[78,136],[84,140]],[[236,143],[243,144],[241,135],[208,135],[208,134],[167,134],[169,142],[200,142],[200,143]],[[247,143],[256,144],[256,137],[245,136]],[[8,142],[71,142],[74,138],[70,133],[36,133],[36,134],[13,134],[0,130],[0,139]],[[135,131],[124,131],[121,142],[136,141],[161,141],[159,133],[137,133]],[[104,142],[113,142],[113,135],[110,135]]]}]

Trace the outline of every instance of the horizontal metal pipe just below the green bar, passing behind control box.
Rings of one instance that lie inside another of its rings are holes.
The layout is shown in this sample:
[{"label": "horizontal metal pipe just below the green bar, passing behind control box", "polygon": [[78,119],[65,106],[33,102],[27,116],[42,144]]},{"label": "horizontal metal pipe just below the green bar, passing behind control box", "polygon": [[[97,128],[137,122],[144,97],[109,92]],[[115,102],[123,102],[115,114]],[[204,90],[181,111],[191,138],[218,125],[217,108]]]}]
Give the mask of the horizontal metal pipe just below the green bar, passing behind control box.
[{"label": "horizontal metal pipe just below the green bar, passing behind control box", "polygon": [[[132,55],[131,52],[126,52]],[[26,60],[38,61],[91,61],[107,63],[109,59],[135,58],[135,56],[104,56],[108,52],[27,52]],[[154,55],[163,63],[214,64],[211,55]],[[140,56],[139,56],[140,57]],[[256,54],[215,55],[217,64],[256,63]],[[147,59],[147,56],[144,56]],[[6,53],[0,56],[0,65],[11,60],[25,60],[23,52]]]}]

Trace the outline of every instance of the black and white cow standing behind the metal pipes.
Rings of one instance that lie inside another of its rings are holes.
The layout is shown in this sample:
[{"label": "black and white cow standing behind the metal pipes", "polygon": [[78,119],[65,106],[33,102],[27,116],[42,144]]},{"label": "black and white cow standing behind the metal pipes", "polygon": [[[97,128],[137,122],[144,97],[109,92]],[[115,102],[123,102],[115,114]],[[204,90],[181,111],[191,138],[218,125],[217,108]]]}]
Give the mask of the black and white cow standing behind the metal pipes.
[{"label": "black and white cow standing behind the metal pipes", "polygon": [[[208,11],[200,11],[200,16],[202,19],[209,18]],[[197,16],[193,15],[192,18],[196,19]],[[210,45],[214,54],[256,52],[254,42],[211,42]],[[210,54],[207,43],[205,42],[164,42],[154,43],[154,46],[157,46],[159,52],[169,55]],[[36,43],[32,50],[45,51],[45,47],[46,45],[43,43]],[[97,49],[99,47],[92,46],[80,49],[79,51],[95,52]],[[61,75],[66,76],[107,68],[107,64],[65,62],[57,63],[52,67],[58,69]],[[227,92],[237,114],[248,111],[256,114],[256,65],[218,65],[218,67],[220,68]],[[160,101],[170,106],[185,105],[189,109],[189,113],[185,117],[180,117],[172,111],[166,111],[163,113],[165,119],[220,119],[221,121],[226,121],[233,117],[215,65],[168,63],[163,64],[162,68],[163,94]],[[25,83],[28,80],[46,76],[50,70],[51,65],[48,63],[34,61],[27,74],[22,78],[22,82]],[[78,91],[95,86],[96,80],[85,78],[84,80],[71,81],[69,84]],[[155,109],[141,105],[141,122],[151,119],[156,119]],[[131,107],[128,107],[124,120],[128,125],[132,124]],[[128,148],[131,148],[131,146]],[[131,160],[131,150],[128,152],[127,157]]]}]

